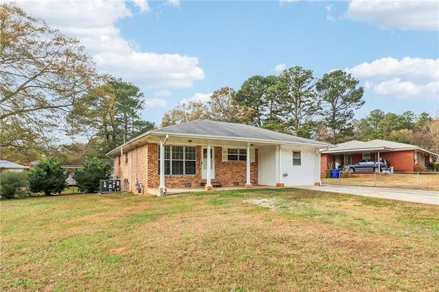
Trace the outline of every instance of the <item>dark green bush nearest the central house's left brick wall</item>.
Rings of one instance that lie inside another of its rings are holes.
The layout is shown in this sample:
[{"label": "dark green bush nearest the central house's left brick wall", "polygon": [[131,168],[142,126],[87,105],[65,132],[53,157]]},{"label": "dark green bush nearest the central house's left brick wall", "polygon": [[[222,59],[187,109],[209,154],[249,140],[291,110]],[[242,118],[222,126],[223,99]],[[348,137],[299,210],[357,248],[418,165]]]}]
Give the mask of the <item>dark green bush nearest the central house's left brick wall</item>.
[{"label": "dark green bush nearest the central house's left brick wall", "polygon": [[80,192],[95,193],[99,190],[99,181],[110,178],[110,163],[102,163],[97,157],[86,158],[82,167],[73,175]]}]

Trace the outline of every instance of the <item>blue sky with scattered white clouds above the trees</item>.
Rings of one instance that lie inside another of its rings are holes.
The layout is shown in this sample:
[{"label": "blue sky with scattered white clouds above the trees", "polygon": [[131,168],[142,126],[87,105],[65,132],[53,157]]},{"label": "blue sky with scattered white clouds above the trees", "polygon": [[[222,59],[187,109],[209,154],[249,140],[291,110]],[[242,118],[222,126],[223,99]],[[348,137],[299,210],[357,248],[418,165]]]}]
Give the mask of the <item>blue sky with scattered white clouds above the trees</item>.
[{"label": "blue sky with scattered white clouds above the trees", "polygon": [[[0,2],[8,2],[0,0]],[[254,75],[342,69],[372,110],[439,117],[439,1],[16,1],[78,38],[97,71],[138,86],[156,125]]]}]

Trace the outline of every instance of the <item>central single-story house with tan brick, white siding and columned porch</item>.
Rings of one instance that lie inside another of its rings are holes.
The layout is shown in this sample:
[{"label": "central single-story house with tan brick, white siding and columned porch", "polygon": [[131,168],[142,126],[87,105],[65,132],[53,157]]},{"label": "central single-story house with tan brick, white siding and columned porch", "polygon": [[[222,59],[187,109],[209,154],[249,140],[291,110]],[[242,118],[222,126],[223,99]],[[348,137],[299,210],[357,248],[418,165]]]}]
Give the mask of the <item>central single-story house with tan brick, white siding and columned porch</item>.
[{"label": "central single-story house with tan brick, white siding and columned porch", "polygon": [[125,180],[128,191],[161,195],[167,188],[202,185],[206,190],[215,185],[312,185],[320,182],[319,149],[329,146],[199,119],[151,130],[107,155],[114,158],[115,178]]}]

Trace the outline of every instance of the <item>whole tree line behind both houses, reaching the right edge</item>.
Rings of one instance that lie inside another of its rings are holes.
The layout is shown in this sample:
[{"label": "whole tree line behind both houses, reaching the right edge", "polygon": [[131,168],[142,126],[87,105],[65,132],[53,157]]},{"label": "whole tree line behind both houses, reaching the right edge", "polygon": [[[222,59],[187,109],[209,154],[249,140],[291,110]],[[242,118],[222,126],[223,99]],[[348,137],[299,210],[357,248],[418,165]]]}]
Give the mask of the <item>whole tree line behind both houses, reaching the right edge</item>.
[{"label": "whole tree line behind both houses, reaching the right edge", "polygon": [[328,143],[382,139],[418,145],[439,153],[439,117],[412,111],[394,114],[372,110],[353,119],[364,105],[363,88],[343,71],[332,71],[320,80],[300,66],[278,76],[256,75],[239,90],[215,90],[208,101],[177,104],[162,119],[162,126],[194,119],[246,123],[277,132]]}]

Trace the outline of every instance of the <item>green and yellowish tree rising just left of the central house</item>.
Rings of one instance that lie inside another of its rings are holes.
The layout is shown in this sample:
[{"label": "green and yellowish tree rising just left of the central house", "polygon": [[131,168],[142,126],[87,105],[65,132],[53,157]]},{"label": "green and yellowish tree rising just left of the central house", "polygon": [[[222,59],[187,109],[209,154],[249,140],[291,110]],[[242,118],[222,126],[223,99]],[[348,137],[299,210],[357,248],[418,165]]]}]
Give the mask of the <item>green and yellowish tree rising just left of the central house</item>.
[{"label": "green and yellowish tree rising just left of the central house", "polygon": [[104,77],[105,83],[75,100],[67,117],[69,134],[88,136],[91,154],[104,157],[111,149],[150,130],[154,124],[142,121],[143,94],[133,84]]}]

